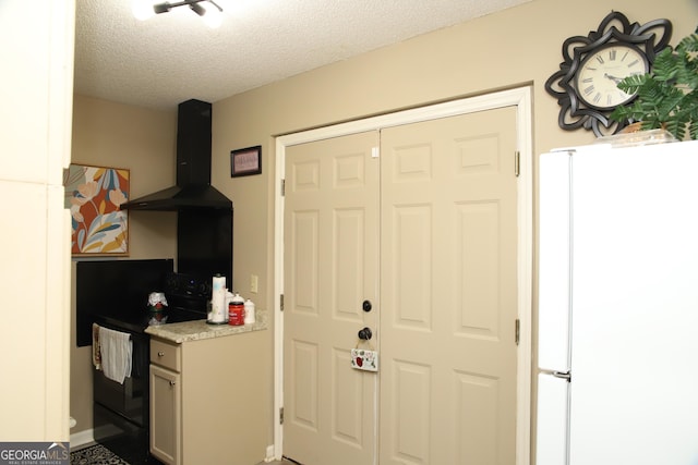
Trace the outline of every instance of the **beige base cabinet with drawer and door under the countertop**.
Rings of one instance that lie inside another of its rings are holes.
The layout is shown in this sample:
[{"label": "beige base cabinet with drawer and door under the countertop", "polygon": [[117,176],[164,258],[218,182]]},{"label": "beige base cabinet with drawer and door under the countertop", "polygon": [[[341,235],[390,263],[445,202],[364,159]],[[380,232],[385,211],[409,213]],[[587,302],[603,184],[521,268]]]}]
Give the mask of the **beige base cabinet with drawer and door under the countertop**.
[{"label": "beige base cabinet with drawer and door under the countertop", "polygon": [[264,461],[270,393],[263,332],[176,343],[151,338],[151,453],[168,465]]}]

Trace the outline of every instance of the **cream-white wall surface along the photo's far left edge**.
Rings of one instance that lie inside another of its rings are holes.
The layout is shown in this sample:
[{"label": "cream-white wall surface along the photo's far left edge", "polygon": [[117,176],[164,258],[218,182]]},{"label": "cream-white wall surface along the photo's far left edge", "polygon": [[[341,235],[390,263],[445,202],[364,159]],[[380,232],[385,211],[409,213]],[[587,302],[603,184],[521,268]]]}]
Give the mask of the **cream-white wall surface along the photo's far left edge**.
[{"label": "cream-white wall surface along the photo's far left edge", "polygon": [[74,9],[0,2],[0,441],[69,438]]}]

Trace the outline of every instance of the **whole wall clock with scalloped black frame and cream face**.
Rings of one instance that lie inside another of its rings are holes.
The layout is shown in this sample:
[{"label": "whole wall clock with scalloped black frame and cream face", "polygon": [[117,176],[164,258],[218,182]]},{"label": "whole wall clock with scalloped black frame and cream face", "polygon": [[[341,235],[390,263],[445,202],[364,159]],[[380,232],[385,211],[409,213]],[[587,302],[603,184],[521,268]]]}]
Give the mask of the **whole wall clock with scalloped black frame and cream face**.
[{"label": "whole wall clock with scalloped black frame and cream face", "polygon": [[654,56],[669,45],[672,23],[654,20],[639,25],[617,11],[603,19],[599,29],[573,36],[563,42],[559,71],[545,82],[545,90],[557,99],[557,123],[565,131],[583,127],[597,137],[615,134],[627,122],[611,121],[619,105],[635,95],[616,87],[624,77],[651,70]]}]

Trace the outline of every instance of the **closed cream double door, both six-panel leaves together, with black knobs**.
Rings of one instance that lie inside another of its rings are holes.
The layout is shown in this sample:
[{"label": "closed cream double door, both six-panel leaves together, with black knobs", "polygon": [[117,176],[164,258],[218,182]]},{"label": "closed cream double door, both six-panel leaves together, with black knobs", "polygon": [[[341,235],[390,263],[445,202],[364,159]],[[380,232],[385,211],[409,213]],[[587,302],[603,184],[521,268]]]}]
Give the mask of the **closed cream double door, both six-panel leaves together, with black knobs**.
[{"label": "closed cream double door, both six-panel leaves together, with black knobs", "polygon": [[507,107],[287,148],[285,456],[515,463],[515,127]]}]

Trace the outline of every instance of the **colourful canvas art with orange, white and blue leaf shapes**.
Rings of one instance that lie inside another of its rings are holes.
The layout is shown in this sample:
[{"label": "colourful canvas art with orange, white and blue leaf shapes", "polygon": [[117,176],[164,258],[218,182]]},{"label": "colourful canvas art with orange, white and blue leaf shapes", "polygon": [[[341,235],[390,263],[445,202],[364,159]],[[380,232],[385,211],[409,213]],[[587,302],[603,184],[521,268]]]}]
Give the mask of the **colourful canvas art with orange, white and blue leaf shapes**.
[{"label": "colourful canvas art with orange, white and blue leaf shapes", "polygon": [[128,255],[129,170],[71,164],[63,180],[73,255]]}]

